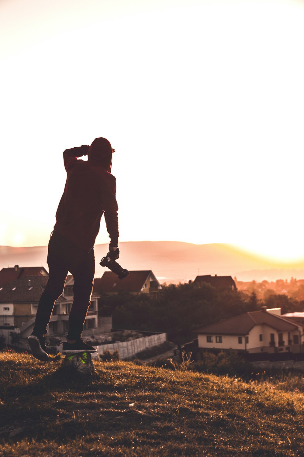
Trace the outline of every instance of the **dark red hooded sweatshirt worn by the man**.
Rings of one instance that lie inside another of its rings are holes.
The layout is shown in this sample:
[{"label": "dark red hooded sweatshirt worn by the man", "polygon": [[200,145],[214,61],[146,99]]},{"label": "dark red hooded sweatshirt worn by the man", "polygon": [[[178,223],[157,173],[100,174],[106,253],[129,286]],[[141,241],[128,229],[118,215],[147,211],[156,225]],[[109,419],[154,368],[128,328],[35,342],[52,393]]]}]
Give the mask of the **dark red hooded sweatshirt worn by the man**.
[{"label": "dark red hooded sweatshirt worn by the man", "polygon": [[[88,155],[88,160],[77,157]],[[118,242],[116,179],[111,175],[112,147],[106,138],[91,146],[64,151],[67,180],[56,212],[54,230],[85,251],[94,246],[104,213],[111,246]]]}]

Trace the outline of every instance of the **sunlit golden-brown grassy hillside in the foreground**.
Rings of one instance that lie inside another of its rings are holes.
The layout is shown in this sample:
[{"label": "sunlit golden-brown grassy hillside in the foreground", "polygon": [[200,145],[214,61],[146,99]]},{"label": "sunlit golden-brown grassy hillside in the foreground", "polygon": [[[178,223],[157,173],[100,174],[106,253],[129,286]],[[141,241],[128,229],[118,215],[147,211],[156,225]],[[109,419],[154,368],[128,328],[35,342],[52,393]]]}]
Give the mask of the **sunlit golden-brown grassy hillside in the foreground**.
[{"label": "sunlit golden-brown grassy hillside in the foreground", "polygon": [[304,456],[303,383],[0,353],[0,456]]}]

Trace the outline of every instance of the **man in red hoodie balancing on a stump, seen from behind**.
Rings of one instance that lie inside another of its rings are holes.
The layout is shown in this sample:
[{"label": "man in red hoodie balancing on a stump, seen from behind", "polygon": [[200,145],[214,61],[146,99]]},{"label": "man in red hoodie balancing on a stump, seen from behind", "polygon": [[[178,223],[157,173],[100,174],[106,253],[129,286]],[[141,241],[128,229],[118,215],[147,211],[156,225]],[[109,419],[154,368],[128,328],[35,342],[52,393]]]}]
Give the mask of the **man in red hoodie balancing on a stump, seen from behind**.
[{"label": "man in red hoodie balancing on a stump, seen from behind", "polygon": [[[106,138],[96,138],[91,146],[64,151],[67,179],[48,243],[49,278],[38,303],[32,335],[28,337],[32,355],[39,360],[49,359],[44,335],[69,271],[74,277],[74,301],[63,354],[96,351],[81,339],[81,333],[90,306],[95,273],[93,246],[102,214],[111,239],[109,249],[117,252],[116,259],[119,257],[116,179],[111,175],[113,151]],[[88,156],[87,161],[77,159],[83,155]]]}]

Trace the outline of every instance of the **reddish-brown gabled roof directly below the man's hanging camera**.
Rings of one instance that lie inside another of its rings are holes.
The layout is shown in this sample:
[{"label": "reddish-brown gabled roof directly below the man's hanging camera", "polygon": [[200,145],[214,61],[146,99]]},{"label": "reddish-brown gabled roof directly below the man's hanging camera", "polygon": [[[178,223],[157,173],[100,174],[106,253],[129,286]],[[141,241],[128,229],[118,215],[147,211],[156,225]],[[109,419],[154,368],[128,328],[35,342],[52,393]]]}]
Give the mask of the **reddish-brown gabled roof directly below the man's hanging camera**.
[{"label": "reddish-brown gabled roof directly below the man's hanging camera", "polygon": [[118,279],[112,271],[105,271],[101,278],[95,278],[93,291],[96,292],[140,292],[149,275],[155,280],[151,270],[129,271],[126,278]]}]

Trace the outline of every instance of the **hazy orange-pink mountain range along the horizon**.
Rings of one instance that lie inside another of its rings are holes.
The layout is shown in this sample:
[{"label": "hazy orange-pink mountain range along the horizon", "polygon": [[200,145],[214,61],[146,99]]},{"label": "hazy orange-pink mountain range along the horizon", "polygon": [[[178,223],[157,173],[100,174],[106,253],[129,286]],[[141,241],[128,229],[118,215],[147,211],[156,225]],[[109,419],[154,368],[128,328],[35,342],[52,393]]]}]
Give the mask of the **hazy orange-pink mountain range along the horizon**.
[{"label": "hazy orange-pink mountain range along the horizon", "polygon": [[[96,277],[106,270],[99,265],[107,244],[95,246]],[[304,261],[276,263],[235,249],[229,244],[191,244],[179,241],[129,241],[119,243],[118,263],[128,270],[152,270],[161,283],[187,282],[199,275],[236,276],[239,281],[304,278]],[[0,246],[0,269],[7,266],[44,266],[47,246]]]}]

